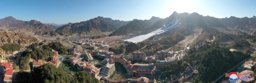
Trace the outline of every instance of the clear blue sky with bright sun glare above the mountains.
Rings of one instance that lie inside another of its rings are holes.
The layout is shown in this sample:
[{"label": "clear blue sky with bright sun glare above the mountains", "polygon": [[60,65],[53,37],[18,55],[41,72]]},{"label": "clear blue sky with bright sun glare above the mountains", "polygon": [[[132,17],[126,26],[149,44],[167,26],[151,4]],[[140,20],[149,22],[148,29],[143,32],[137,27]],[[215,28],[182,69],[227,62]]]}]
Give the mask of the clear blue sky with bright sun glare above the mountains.
[{"label": "clear blue sky with bright sun glare above the mountains", "polygon": [[63,24],[97,16],[119,20],[165,18],[173,11],[203,16],[256,16],[256,0],[1,0],[0,18]]}]

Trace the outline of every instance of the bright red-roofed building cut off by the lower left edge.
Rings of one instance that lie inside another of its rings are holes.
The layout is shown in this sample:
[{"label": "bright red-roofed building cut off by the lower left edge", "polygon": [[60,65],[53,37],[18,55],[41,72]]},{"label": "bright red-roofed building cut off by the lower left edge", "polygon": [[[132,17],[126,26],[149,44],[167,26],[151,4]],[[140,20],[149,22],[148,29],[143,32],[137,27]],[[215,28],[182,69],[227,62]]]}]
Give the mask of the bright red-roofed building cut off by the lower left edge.
[{"label": "bright red-roofed building cut off by the lower left edge", "polygon": [[0,64],[0,72],[3,74],[4,83],[11,83],[13,76],[13,66],[12,62],[10,63],[1,63]]}]

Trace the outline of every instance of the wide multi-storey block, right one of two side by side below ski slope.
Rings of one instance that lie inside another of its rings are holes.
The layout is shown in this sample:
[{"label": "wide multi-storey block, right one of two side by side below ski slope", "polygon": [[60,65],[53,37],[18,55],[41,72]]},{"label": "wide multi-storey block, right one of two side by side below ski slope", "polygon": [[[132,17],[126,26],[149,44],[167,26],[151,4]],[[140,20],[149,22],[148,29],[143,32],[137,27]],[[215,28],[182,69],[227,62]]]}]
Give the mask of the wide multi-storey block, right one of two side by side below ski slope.
[{"label": "wide multi-storey block, right one of two side by side below ski slope", "polygon": [[172,57],[174,55],[173,51],[161,50],[156,52],[156,60],[164,60],[164,58]]}]

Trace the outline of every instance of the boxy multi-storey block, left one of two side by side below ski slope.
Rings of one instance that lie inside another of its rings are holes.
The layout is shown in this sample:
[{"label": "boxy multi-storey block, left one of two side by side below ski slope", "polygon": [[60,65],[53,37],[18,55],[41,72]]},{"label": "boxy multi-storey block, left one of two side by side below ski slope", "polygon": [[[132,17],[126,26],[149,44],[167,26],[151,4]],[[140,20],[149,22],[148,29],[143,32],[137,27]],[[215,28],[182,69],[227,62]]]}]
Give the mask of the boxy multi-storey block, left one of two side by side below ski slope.
[{"label": "boxy multi-storey block, left one of two side by side below ski slope", "polygon": [[144,61],[146,59],[146,54],[141,51],[135,51],[131,53],[131,60],[141,60]]}]

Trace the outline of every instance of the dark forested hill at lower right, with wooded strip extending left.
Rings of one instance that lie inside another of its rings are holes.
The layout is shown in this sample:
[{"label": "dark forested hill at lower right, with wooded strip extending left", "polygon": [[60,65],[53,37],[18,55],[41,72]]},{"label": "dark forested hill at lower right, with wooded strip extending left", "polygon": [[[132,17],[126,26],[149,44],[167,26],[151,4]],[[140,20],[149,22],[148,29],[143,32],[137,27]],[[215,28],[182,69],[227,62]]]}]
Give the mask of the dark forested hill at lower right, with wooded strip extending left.
[{"label": "dark forested hill at lower right, with wooded strip extending left", "polygon": [[186,61],[199,71],[199,75],[194,80],[195,83],[213,82],[215,78],[250,57],[249,54],[240,51],[231,52],[229,48],[220,47],[216,42],[206,42],[199,49],[192,48],[189,56],[184,60],[175,61],[163,67],[161,71],[165,72],[162,78],[184,72],[187,65],[182,62]]}]

